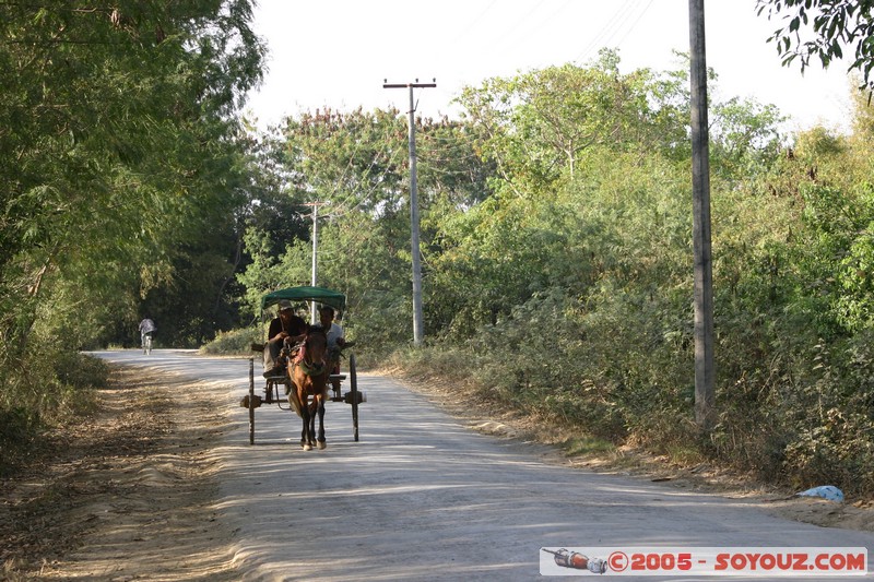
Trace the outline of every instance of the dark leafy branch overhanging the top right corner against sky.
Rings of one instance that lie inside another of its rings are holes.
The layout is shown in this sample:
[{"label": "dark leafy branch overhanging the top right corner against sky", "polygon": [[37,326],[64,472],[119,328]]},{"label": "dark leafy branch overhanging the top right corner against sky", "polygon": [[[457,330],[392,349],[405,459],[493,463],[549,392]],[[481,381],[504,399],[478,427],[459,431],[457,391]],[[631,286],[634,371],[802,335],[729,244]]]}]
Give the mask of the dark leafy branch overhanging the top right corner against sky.
[{"label": "dark leafy branch overhanging the top right corner against sky", "polygon": [[860,71],[861,87],[874,91],[874,0],[757,0],[756,5],[769,20],[782,15],[783,25],[768,40],[777,43],[784,66],[798,59],[804,72],[818,58],[828,68],[849,47],[853,58],[848,70]]}]

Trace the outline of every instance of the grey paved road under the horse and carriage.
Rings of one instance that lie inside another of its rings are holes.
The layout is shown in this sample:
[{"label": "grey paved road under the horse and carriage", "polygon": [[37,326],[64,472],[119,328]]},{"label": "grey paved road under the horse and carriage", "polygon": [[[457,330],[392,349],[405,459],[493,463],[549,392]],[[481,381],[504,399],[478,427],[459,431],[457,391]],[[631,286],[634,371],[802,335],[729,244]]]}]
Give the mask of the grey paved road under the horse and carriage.
[{"label": "grey paved road under the horse and carriage", "polygon": [[[330,403],[327,450],[303,451],[299,420],[274,407],[256,412],[252,447],[248,412],[237,405],[248,392],[248,360],[181,351],[98,355],[214,382],[226,397],[234,428],[216,452],[224,466],[221,507],[238,528],[243,580],[516,581],[540,579],[541,568],[578,573],[555,567],[542,547],[874,548],[874,534],[547,464],[540,447],[472,432],[401,384],[362,373],[368,402],[359,442],[351,407]],[[260,378],[256,385],[260,392]]]}]

